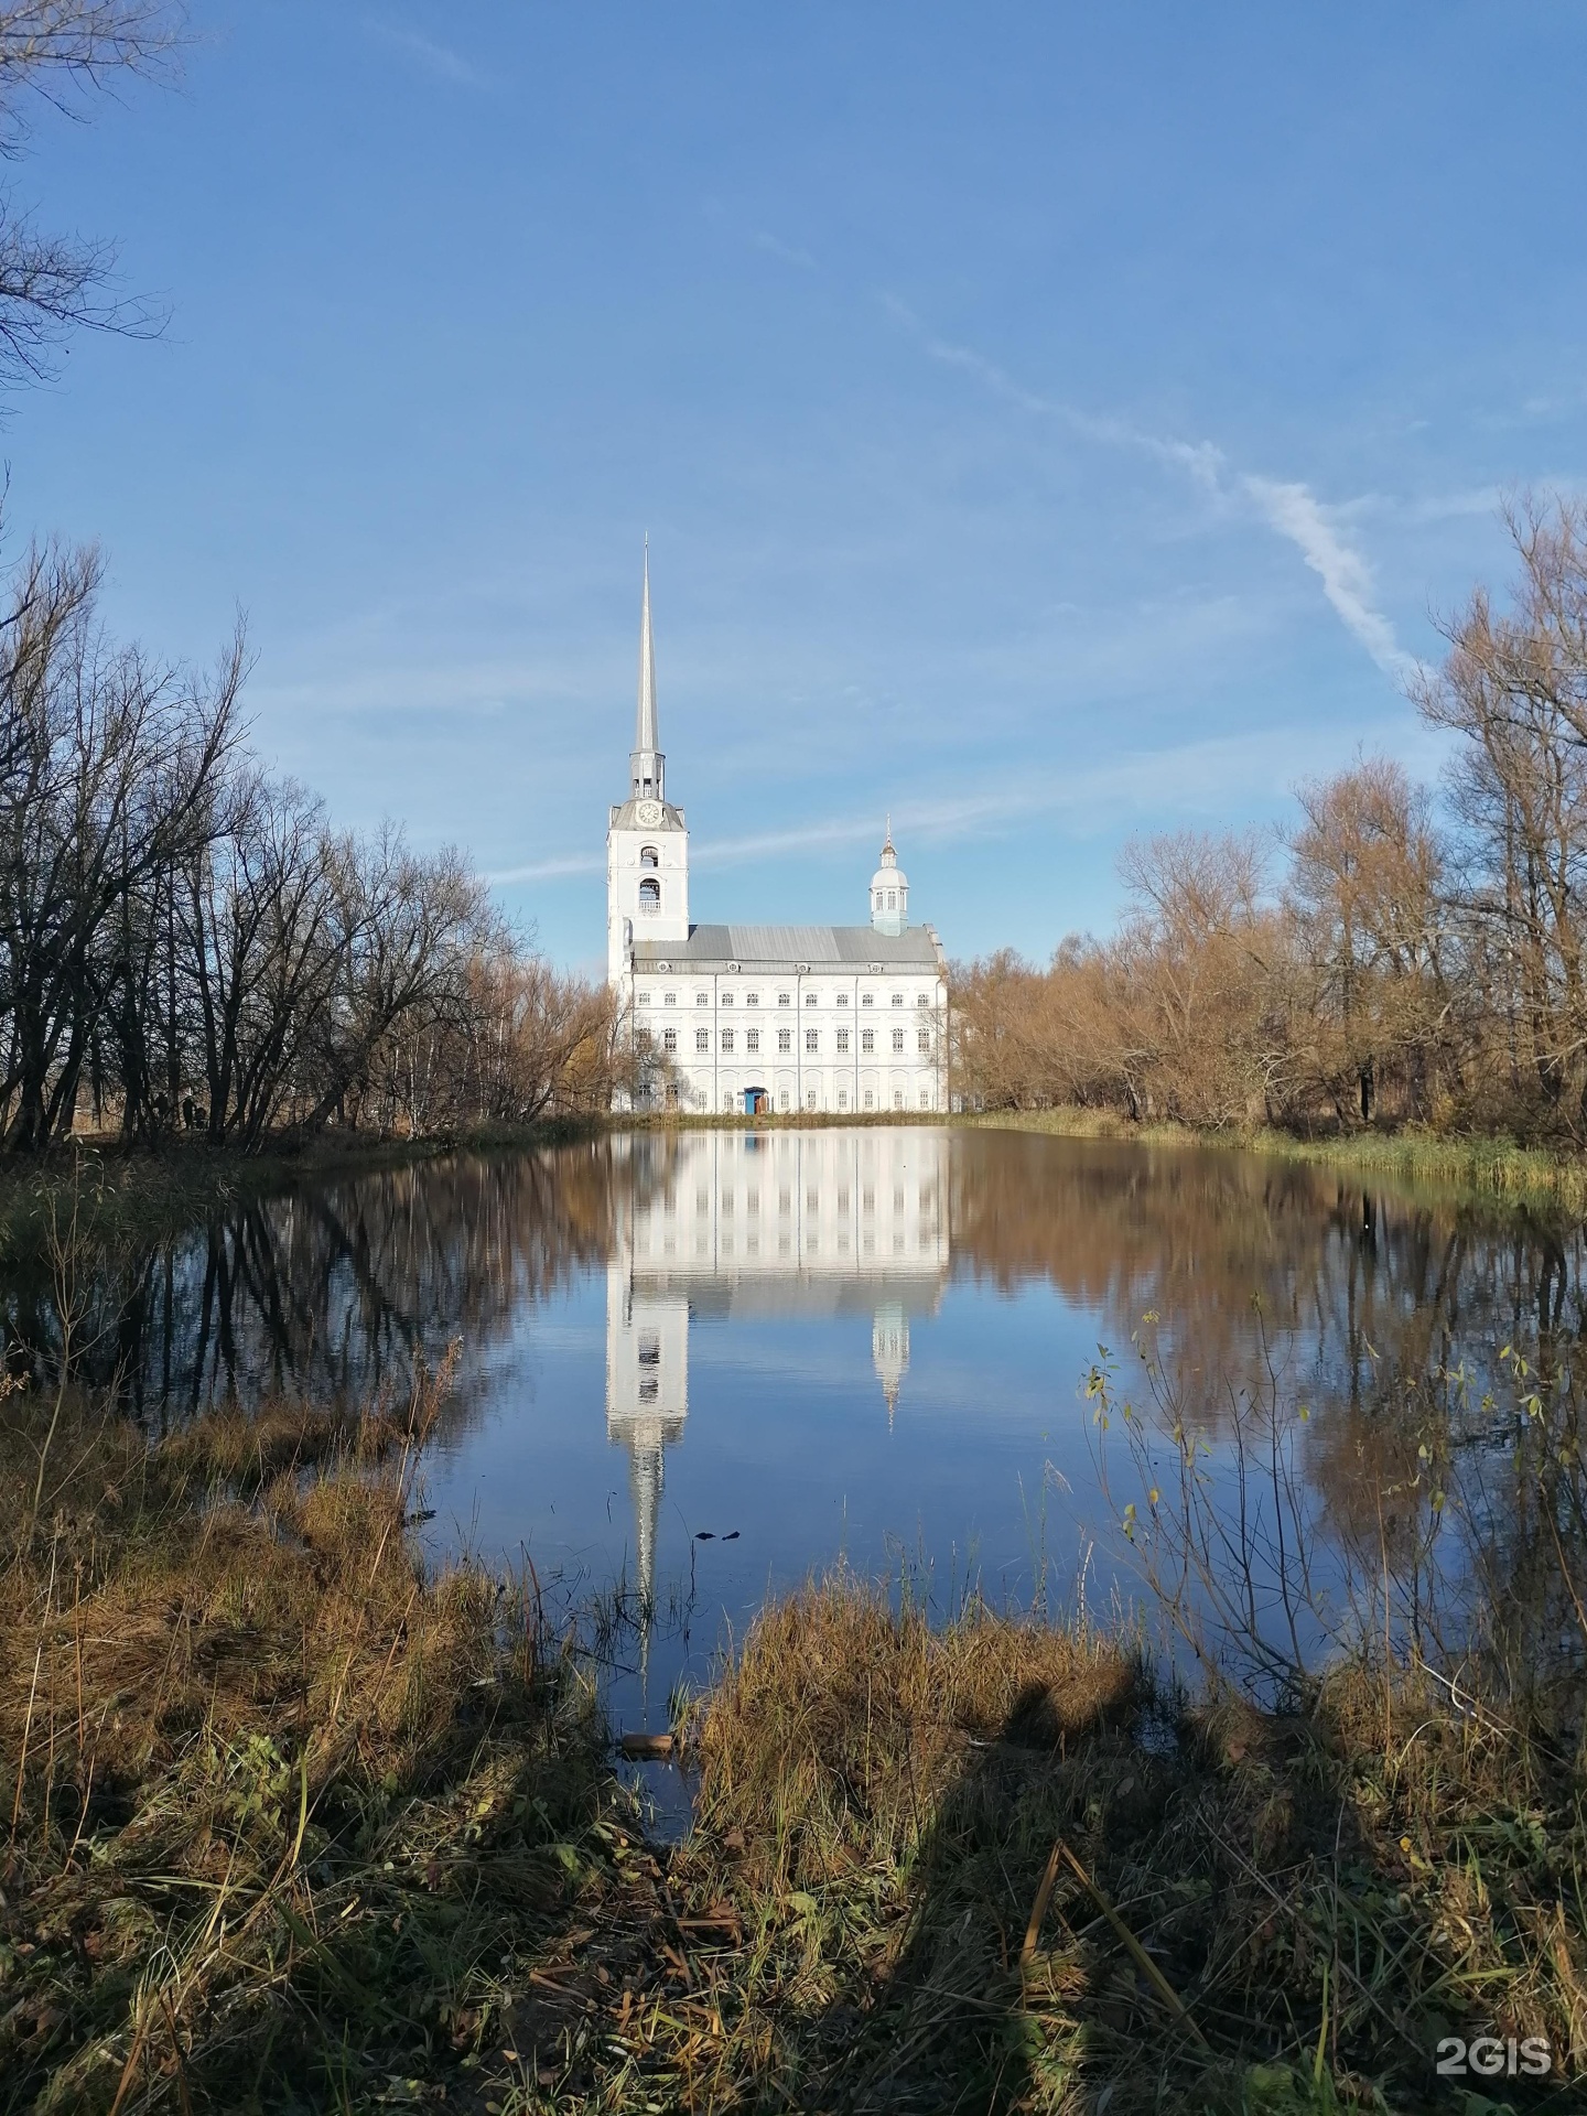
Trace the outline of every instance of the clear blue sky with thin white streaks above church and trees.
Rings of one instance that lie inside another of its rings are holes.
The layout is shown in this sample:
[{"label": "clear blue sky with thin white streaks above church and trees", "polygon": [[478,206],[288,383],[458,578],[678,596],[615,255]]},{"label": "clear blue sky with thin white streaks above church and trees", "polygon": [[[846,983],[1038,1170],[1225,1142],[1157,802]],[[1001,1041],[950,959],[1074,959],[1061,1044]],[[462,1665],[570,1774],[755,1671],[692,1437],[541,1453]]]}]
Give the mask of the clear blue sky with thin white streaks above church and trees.
[{"label": "clear blue sky with thin white streaks above church and trees", "polygon": [[0,444],[116,628],[595,965],[652,540],[696,916],[950,954],[1136,832],[1422,772],[1433,614],[1587,444],[1583,4],[195,4],[13,171],[169,303]]}]

